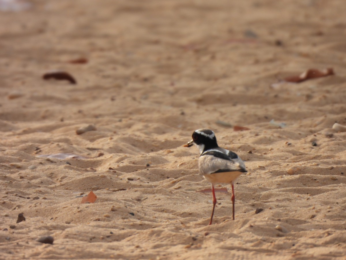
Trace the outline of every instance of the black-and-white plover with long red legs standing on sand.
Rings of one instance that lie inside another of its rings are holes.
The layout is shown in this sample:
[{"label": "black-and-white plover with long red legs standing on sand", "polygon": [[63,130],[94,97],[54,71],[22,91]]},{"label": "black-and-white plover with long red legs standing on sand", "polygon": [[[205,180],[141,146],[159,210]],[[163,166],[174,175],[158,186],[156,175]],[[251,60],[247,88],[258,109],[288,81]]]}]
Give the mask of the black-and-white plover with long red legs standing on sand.
[{"label": "black-and-white plover with long red legs standing on sand", "polygon": [[210,129],[198,129],[192,133],[192,140],[185,147],[196,145],[200,151],[198,169],[200,174],[211,183],[213,193],[213,209],[211,212],[211,225],[216,205],[214,185],[217,183],[230,183],[232,185],[232,217],[234,220],[234,180],[247,172],[245,163],[233,151],[221,148],[216,141],[215,133]]}]

